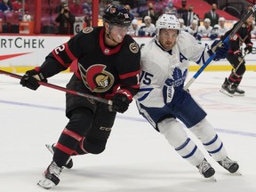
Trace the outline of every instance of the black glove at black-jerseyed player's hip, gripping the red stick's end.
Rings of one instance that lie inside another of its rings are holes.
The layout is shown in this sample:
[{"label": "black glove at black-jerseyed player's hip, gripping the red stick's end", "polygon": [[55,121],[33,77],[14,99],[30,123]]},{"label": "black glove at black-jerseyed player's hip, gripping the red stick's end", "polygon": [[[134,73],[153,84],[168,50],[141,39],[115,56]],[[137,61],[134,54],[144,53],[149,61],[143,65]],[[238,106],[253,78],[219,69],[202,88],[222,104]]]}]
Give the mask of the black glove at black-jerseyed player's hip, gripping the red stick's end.
[{"label": "black glove at black-jerseyed player's hip, gripping the red stick's end", "polygon": [[128,109],[131,101],[124,94],[115,94],[112,98],[112,111],[124,113]]}]

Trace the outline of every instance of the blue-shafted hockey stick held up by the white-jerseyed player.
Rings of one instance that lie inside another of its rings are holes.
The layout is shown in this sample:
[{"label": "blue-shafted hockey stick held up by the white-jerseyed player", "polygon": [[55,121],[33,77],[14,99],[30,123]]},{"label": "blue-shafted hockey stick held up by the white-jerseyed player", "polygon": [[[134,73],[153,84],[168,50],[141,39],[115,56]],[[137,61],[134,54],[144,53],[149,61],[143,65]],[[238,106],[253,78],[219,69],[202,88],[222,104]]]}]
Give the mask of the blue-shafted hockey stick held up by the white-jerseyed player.
[{"label": "blue-shafted hockey stick held up by the white-jerseyed player", "polygon": [[[230,32],[230,34],[222,41],[222,43],[227,43],[229,41],[229,39],[234,36],[236,34],[236,32],[238,31],[239,28],[242,27],[242,25],[244,24],[244,22],[252,15],[253,12],[256,11],[256,4],[253,5],[252,10],[250,10],[249,12],[247,12],[247,14],[244,16],[244,18],[242,20],[239,20],[239,22],[236,25],[236,28],[233,28],[233,30]],[[221,42],[220,42],[221,44]],[[199,70],[196,72],[196,74],[188,81],[188,84],[186,84],[184,86],[184,90],[187,90],[188,87],[194,83],[194,81],[196,80],[196,78],[204,71],[204,68],[206,68],[210,62],[215,58],[216,56],[216,52],[214,52],[212,54],[212,56],[206,60],[203,64],[203,66],[201,68],[199,68]]]}]

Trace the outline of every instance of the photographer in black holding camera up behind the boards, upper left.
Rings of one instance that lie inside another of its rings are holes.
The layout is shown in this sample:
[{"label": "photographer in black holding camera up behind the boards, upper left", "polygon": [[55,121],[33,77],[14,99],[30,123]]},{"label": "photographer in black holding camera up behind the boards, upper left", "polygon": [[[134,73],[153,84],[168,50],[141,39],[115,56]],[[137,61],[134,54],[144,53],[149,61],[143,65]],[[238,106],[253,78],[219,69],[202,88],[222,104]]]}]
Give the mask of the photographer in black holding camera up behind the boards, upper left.
[{"label": "photographer in black holding camera up behind the boards, upper left", "polygon": [[60,23],[59,34],[74,34],[75,16],[69,12],[68,4],[64,4],[55,21]]}]

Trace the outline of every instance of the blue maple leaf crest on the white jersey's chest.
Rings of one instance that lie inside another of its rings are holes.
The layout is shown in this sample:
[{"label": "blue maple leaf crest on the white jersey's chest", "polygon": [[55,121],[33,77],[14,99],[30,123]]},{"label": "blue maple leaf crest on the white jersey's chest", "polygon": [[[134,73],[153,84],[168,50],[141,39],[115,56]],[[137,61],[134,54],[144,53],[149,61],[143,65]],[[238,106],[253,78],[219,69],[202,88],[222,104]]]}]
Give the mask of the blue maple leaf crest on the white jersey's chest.
[{"label": "blue maple leaf crest on the white jersey's chest", "polygon": [[172,73],[172,78],[168,78],[165,81],[165,84],[168,86],[183,87],[186,76],[187,76],[188,68],[182,73],[180,68],[174,68]]}]

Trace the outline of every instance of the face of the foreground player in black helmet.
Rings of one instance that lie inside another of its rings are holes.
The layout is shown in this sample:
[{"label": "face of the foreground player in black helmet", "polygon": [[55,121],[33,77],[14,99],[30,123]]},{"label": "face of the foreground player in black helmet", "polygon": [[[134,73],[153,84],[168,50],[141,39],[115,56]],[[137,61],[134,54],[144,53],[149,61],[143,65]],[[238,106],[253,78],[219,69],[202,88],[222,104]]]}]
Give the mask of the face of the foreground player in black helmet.
[{"label": "face of the foreground player in black helmet", "polygon": [[111,28],[107,27],[106,33],[108,33],[108,38],[110,39],[110,41],[108,41],[107,44],[112,46],[116,44],[120,44],[124,40],[124,36],[128,32],[128,28],[129,26],[124,27],[124,26],[117,26],[117,25],[112,25]]}]

